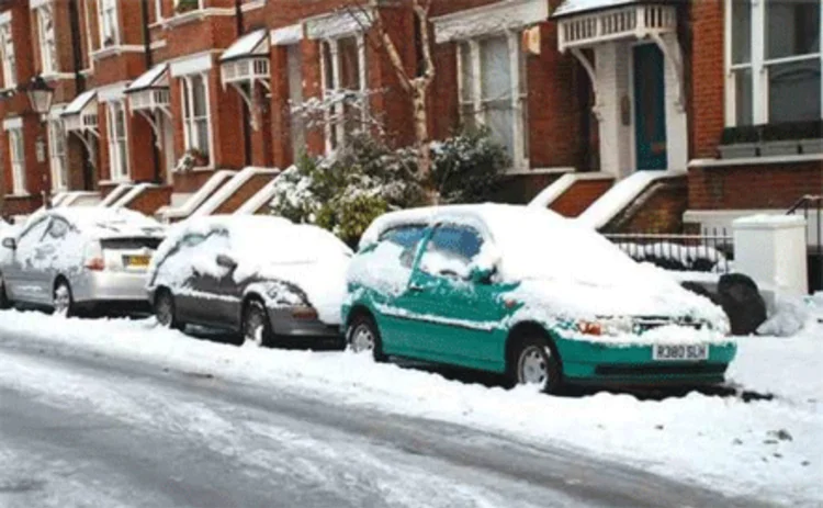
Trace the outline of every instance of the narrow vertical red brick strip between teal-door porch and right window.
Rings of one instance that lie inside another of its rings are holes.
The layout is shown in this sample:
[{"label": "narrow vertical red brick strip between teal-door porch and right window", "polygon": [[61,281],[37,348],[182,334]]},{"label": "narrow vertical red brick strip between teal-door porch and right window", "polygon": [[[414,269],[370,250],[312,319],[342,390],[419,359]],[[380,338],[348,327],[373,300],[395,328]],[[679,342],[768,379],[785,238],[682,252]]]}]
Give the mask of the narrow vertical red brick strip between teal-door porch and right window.
[{"label": "narrow vertical red brick strip between teal-door porch and right window", "polygon": [[691,2],[691,146],[692,158],[717,156],[724,125],[723,3]]}]

